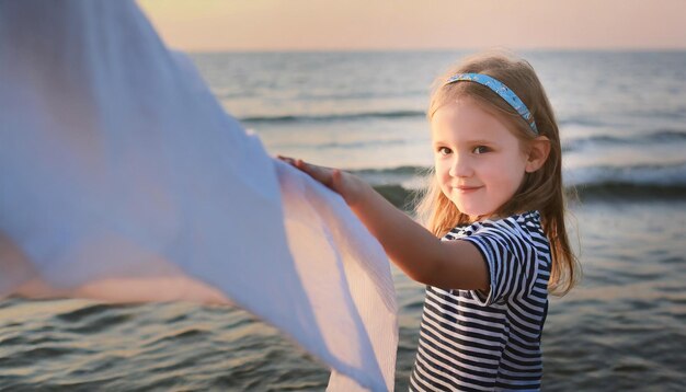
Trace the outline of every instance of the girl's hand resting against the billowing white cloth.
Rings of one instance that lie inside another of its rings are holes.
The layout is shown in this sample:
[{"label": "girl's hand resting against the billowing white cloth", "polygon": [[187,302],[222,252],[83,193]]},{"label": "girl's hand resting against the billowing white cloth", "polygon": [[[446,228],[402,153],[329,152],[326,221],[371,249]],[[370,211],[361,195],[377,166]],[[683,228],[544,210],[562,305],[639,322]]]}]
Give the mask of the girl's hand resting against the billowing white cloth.
[{"label": "girl's hand resting against the billowing white cloth", "polygon": [[283,155],[277,155],[277,158],[293,165],[294,168],[297,168],[298,170],[307,173],[312,178],[324,184],[331,191],[343,196],[345,203],[351,207],[358,201],[359,195],[364,191],[364,185],[366,185],[358,177],[354,176],[351,173],[343,172],[340,169],[318,166],[311,163],[307,163],[301,159],[294,159]]}]

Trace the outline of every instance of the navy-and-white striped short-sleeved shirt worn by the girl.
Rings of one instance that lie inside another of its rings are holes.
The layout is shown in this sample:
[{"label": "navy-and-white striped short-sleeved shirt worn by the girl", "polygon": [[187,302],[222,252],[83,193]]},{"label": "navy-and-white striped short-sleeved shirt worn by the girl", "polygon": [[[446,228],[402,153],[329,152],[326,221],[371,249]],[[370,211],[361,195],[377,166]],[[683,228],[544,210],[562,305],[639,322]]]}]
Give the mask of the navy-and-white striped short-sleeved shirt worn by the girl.
[{"label": "navy-and-white striped short-sleeved shirt worn by the girl", "polygon": [[540,390],[550,246],[538,211],[455,228],[490,276],[488,292],[428,286],[411,391]]}]

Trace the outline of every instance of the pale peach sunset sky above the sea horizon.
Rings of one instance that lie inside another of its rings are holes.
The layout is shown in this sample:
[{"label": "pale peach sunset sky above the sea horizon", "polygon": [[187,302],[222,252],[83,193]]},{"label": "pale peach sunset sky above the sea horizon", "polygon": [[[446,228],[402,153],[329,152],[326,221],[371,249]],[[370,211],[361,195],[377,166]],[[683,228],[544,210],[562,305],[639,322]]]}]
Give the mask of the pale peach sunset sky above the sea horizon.
[{"label": "pale peach sunset sky above the sea horizon", "polygon": [[686,49],[686,0],[138,0],[186,51]]}]

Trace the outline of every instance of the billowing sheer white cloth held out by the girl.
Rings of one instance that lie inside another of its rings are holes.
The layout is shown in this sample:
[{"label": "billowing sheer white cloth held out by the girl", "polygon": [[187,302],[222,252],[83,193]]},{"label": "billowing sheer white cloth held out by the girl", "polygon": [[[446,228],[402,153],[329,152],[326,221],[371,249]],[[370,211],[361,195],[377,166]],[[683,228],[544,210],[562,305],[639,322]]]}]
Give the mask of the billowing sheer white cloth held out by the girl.
[{"label": "billowing sheer white cloth held out by the girl", "polygon": [[328,364],[330,390],[392,389],[380,245],[130,1],[0,0],[0,297],[18,292],[230,299]]}]

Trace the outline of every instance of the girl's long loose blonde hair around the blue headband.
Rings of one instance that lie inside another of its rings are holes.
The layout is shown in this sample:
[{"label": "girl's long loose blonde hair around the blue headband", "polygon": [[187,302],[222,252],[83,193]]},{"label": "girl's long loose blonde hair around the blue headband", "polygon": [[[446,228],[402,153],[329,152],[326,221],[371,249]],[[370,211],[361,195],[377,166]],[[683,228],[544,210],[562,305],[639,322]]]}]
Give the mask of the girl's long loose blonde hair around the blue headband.
[{"label": "girl's long loose blonde hair around the blue headband", "polygon": [[[431,122],[434,113],[458,97],[469,96],[484,109],[505,119],[515,129],[514,135],[523,146],[536,135],[529,124],[503,99],[488,87],[473,82],[446,84],[456,73],[483,73],[495,78],[514,91],[529,108],[538,132],[550,141],[550,153],[544,165],[526,173],[515,195],[496,211],[498,216],[511,216],[527,210],[539,210],[544,232],[550,242],[552,266],[548,289],[563,296],[576,284],[581,268],[571,250],[564,227],[565,197],[562,186],[562,149],[558,124],[534,68],[524,59],[502,51],[468,57],[446,74],[439,77],[431,94],[426,117]],[[428,174],[428,186],[419,195],[418,217],[435,235],[443,237],[456,226],[471,223],[441,191],[433,169]]]}]

